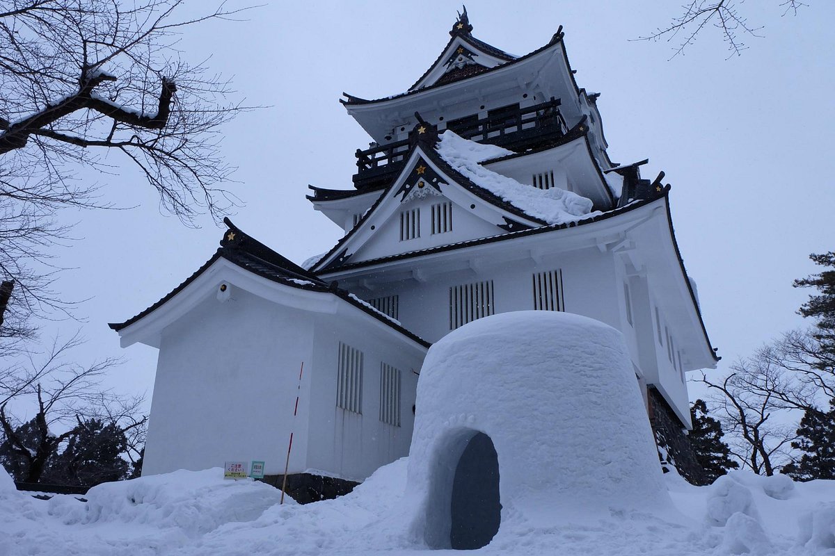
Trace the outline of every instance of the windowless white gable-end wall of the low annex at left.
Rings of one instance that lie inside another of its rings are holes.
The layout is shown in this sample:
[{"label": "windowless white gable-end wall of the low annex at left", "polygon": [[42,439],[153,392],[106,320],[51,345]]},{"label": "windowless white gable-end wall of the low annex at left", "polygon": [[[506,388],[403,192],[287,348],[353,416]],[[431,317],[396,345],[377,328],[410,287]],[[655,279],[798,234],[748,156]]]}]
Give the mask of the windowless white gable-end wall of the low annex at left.
[{"label": "windowless white gable-end wall of the low annex at left", "polygon": [[164,330],[145,475],[252,459],[283,473],[291,426],[291,471],[306,468],[306,403],[295,423],[292,413],[299,366],[311,359],[311,316],[232,288],[227,302],[211,293]]}]

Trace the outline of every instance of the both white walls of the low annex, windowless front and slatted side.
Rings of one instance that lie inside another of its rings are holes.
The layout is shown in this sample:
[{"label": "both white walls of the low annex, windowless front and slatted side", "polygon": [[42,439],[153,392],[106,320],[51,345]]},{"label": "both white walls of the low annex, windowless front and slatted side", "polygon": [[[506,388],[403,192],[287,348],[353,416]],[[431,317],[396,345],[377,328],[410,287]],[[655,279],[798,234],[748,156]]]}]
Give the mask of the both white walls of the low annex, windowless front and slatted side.
[{"label": "both white walls of the low annex, windowless front and slatted side", "polygon": [[[144,474],[253,459],[284,473],[291,431],[290,473],[360,480],[407,455],[425,348],[329,293],[314,295],[335,312],[314,313],[231,288],[162,333]],[[340,342],[364,354],[362,414],[337,408]],[[381,363],[401,370],[399,427],[379,418]]]}]

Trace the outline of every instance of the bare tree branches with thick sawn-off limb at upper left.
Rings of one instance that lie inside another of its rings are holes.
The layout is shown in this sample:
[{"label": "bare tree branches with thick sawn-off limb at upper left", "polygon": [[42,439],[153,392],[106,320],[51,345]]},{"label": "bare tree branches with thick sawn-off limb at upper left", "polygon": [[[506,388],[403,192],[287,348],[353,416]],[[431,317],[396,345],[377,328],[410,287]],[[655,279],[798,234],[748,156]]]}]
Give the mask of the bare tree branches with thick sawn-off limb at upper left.
[{"label": "bare tree branches with thick sawn-off limb at upper left", "polygon": [[[221,2],[178,18],[185,0],[0,0],[0,280],[15,283],[0,338],[31,337],[32,315],[71,313],[53,292],[62,208],[113,208],[79,167],[136,166],[162,210],[216,220],[237,199],[220,127],[246,110],[230,83],[180,58],[180,33],[249,8]],[[109,156],[109,162],[104,155]],[[119,160],[121,158],[121,160]],[[2,347],[0,347],[2,350]]]}]

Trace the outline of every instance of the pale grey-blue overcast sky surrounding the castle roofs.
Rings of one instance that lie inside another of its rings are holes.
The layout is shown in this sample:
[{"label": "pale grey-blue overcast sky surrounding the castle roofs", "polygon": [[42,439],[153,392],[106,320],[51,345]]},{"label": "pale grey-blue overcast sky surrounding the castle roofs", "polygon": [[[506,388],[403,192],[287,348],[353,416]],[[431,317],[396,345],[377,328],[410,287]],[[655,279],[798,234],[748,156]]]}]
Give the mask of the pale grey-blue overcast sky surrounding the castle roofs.
[{"label": "pale grey-blue overcast sky surrounding the castle roofs", "polygon": [[[631,39],[664,26],[679,3],[470,2],[473,35],[524,54],[564,26],[580,87],[600,92],[610,158],[650,158],[672,185],[676,237],[696,279],[712,343],[727,363],[788,328],[808,292],[792,279],[815,271],[808,253],[835,249],[832,103],[835,2],[808,0],[782,17],[781,0],[741,3],[764,38],[745,37],[727,59],[721,34],[706,28],[685,56],[671,43]],[[193,2],[199,9],[201,2]],[[186,59],[234,78],[240,98],[263,105],[225,128],[224,152],[239,168],[229,188],[244,205],[240,228],[301,262],[341,230],[305,199],[307,184],[350,188],[354,151],[370,140],[338,103],[342,91],[378,98],[405,91],[438,57],[460,5],[454,2],[271,3],[243,22],[190,28]],[[109,163],[121,163],[110,155]],[[152,391],[156,350],[119,348],[108,322],[122,322],[175,288],[215,252],[222,230],[208,218],[185,228],[159,213],[154,192],[126,168],[102,194],[125,211],[65,213],[78,222],[58,251],[57,288],[90,298],[83,323],[47,323],[44,338],[82,328],[82,361],[121,355],[109,384]]]}]

